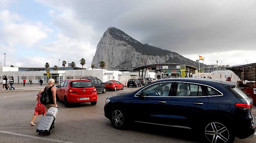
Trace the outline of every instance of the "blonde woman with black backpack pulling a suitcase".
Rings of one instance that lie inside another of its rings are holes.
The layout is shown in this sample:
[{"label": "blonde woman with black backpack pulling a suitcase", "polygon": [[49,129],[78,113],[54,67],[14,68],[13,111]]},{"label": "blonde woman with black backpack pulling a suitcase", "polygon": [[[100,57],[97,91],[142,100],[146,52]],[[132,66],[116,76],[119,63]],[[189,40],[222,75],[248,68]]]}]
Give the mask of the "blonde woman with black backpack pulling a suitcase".
[{"label": "blonde woman with black backpack pulling a suitcase", "polygon": [[45,92],[47,92],[48,97],[50,101],[47,104],[44,104],[45,110],[48,110],[50,107],[58,108],[57,102],[56,102],[56,88],[54,87],[54,79],[48,80],[48,86],[45,87]]}]

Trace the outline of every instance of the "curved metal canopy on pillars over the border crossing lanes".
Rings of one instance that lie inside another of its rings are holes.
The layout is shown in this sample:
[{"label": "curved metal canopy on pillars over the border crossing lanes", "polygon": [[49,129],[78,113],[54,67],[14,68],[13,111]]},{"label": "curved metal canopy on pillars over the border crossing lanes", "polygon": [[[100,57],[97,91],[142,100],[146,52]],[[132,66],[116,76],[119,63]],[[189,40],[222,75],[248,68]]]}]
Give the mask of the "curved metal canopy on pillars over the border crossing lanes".
[{"label": "curved metal canopy on pillars over the border crossing lanes", "polygon": [[[148,65],[142,65],[142,66],[138,66],[137,68],[133,68],[134,71],[139,71],[139,76],[140,76],[140,71],[142,70],[142,77],[143,77],[143,70],[145,70],[145,74],[144,74],[144,78],[146,76],[146,71],[148,67],[153,67],[153,66],[177,66],[177,65],[184,65],[184,64],[175,64],[175,63],[158,63],[158,64],[148,64]],[[189,75],[190,75],[190,70],[196,70],[196,67],[194,66],[190,66],[190,65],[186,65],[186,68],[189,69]],[[187,71],[186,71],[186,75],[187,75]]]}]

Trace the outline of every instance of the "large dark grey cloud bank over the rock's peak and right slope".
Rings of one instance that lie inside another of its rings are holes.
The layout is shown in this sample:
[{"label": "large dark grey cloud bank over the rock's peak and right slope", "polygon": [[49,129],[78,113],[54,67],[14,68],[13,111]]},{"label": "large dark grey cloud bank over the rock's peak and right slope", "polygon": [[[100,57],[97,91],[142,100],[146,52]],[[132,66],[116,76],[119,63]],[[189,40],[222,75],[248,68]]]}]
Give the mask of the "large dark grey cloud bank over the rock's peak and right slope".
[{"label": "large dark grey cloud bank over the rock's peak and right slope", "polygon": [[[40,2],[60,10],[70,9],[80,23],[91,25],[95,47],[110,25],[142,43],[180,54],[198,53],[199,50],[249,50],[256,46],[255,0]],[[69,25],[59,23],[59,26],[69,29],[73,35],[78,33]]]}]

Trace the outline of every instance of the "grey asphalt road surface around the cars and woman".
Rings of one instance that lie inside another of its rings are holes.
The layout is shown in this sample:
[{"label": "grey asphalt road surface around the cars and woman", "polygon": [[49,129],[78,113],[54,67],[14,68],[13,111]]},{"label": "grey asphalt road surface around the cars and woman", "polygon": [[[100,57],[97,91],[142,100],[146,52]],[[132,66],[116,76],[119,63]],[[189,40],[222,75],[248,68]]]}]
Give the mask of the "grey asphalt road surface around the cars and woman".
[{"label": "grey asphalt road surface around the cars and woman", "polygon": [[[197,143],[201,142],[197,133],[189,129],[169,128],[147,124],[134,124],[127,130],[117,130],[104,117],[105,99],[113,94],[132,92],[138,88],[125,88],[116,92],[98,94],[96,105],[75,104],[65,108],[58,102],[55,128],[52,133],[38,135],[36,128],[42,115],[30,126],[36,105],[37,92],[17,92],[0,94],[0,142],[1,143]],[[256,108],[253,107],[255,114]],[[235,143],[255,143],[255,137],[237,139]],[[202,143],[202,142],[201,142]]]}]

